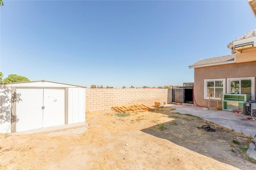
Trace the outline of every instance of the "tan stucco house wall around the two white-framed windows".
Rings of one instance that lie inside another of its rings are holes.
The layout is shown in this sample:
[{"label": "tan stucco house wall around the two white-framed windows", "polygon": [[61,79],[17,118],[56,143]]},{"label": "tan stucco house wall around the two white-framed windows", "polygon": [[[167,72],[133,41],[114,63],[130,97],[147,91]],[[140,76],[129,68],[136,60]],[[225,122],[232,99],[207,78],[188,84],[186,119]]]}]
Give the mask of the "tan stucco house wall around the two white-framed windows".
[{"label": "tan stucco house wall around the two white-framed windows", "polygon": [[[256,58],[256,55],[254,58]],[[227,90],[227,78],[244,77],[256,77],[256,61],[194,68],[194,104],[208,107],[208,100],[204,99],[204,80],[224,78]],[[255,86],[253,88],[255,89]],[[211,107],[216,107],[217,104],[211,102],[211,105]]]}]

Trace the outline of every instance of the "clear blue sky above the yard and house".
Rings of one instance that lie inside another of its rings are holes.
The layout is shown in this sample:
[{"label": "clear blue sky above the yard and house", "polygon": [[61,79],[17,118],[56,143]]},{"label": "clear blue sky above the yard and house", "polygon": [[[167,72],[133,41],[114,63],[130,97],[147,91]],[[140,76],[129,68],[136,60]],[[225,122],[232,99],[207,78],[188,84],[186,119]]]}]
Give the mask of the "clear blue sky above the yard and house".
[{"label": "clear blue sky above the yard and house", "polygon": [[3,0],[0,71],[90,87],[182,85],[256,29],[243,1]]}]

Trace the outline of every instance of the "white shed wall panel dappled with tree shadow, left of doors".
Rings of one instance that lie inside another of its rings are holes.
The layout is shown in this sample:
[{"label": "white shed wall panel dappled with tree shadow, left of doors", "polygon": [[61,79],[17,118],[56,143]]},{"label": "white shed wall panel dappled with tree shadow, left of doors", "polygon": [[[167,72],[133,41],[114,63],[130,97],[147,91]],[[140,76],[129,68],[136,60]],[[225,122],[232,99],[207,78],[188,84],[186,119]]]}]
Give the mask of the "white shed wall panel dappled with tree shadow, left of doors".
[{"label": "white shed wall panel dappled with tree shadow, left of doors", "polygon": [[12,88],[0,88],[0,133],[10,133],[12,127]]}]

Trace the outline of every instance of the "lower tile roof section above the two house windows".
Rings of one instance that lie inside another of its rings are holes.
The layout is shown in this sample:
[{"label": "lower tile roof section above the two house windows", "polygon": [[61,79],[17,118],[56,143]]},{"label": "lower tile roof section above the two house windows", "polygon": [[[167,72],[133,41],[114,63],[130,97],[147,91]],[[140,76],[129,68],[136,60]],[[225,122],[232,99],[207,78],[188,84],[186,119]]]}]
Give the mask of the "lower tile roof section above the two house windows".
[{"label": "lower tile roof section above the two house windows", "polygon": [[189,68],[235,63],[234,57],[235,57],[235,54],[231,54],[231,55],[224,55],[224,56],[220,56],[220,57],[213,57],[213,58],[209,58],[209,59],[201,59],[201,60],[197,61],[196,63],[190,65]]}]

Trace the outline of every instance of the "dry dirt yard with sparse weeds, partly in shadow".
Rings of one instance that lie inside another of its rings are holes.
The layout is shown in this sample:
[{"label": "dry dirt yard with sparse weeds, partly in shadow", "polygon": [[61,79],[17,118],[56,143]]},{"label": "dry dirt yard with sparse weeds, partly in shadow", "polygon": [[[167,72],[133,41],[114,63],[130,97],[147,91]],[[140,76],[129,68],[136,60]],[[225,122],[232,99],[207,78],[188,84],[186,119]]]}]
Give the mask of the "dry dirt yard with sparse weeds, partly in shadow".
[{"label": "dry dirt yard with sparse weeds, partly in shadow", "polygon": [[[131,113],[127,117],[115,116],[111,110],[87,112],[89,127],[82,133],[72,129],[1,134],[0,169],[256,169],[240,149],[247,143],[246,136],[191,115],[171,113],[170,109]],[[197,128],[204,124],[216,132]]]}]

